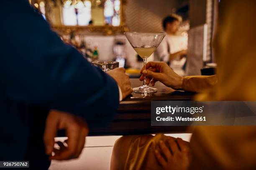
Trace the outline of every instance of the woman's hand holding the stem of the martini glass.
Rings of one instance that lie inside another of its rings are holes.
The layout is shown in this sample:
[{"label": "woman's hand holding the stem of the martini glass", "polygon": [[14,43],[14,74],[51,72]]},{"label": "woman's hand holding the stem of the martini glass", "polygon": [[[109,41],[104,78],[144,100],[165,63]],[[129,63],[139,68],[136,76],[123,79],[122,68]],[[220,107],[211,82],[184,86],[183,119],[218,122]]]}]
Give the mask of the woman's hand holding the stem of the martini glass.
[{"label": "woman's hand holding the stem of the martini glass", "polygon": [[146,84],[151,81],[151,85],[154,86],[156,81],[160,81],[173,89],[182,89],[183,77],[177,75],[165,62],[148,62],[146,67],[148,70],[144,67],[141,69],[141,81],[143,76],[147,76]]}]

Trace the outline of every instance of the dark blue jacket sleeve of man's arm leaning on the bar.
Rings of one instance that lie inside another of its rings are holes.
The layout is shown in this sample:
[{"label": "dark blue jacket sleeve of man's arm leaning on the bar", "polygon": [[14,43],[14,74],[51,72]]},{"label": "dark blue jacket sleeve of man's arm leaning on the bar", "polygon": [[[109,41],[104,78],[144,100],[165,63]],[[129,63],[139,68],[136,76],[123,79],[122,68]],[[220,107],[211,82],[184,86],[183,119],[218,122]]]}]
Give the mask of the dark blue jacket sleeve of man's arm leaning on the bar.
[{"label": "dark blue jacket sleeve of man's arm leaning on the bar", "polygon": [[15,101],[109,120],[119,104],[115,80],[64,44],[25,0],[2,4],[1,86]]}]

